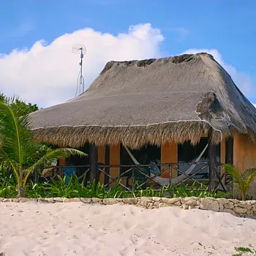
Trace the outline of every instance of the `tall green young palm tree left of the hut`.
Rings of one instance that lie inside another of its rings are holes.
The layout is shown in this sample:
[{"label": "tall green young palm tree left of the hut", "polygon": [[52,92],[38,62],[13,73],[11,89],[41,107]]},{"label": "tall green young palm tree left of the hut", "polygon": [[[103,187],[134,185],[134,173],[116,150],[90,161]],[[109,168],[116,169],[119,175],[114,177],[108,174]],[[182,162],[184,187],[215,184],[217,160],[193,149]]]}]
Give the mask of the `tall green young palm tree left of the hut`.
[{"label": "tall green young palm tree left of the hut", "polygon": [[[20,116],[20,113],[24,113],[24,105],[13,104],[16,100],[10,98],[0,101],[0,165],[14,172],[18,197],[25,197],[26,181],[35,168],[49,165],[60,157],[72,154],[82,157],[86,154],[74,148],[48,149],[43,156],[35,154],[35,148],[40,145],[34,141],[28,129],[29,116]],[[28,162],[33,163],[28,166]]]}]

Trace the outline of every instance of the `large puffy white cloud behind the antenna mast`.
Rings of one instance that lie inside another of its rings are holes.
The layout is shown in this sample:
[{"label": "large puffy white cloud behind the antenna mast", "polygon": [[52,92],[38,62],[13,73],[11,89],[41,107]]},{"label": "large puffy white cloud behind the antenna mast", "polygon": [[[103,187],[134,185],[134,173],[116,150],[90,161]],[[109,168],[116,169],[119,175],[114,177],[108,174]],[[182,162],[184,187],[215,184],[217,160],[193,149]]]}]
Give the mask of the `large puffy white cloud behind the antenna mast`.
[{"label": "large puffy white cloud behind the antenna mast", "polygon": [[50,44],[41,40],[30,49],[0,53],[0,92],[41,107],[55,105],[75,96],[79,56],[72,53],[73,44],[86,45],[83,75],[88,87],[107,61],[159,57],[163,39],[161,31],[149,23],[130,26],[117,36],[86,28]]}]

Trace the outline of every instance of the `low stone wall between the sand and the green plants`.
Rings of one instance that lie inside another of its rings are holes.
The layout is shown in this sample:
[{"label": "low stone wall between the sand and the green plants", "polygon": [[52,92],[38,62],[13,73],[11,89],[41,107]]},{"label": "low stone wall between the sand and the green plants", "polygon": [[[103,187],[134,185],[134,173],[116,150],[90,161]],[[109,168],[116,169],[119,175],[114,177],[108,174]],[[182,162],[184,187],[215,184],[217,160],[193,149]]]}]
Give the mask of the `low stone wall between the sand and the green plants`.
[{"label": "low stone wall between the sand and the green plants", "polygon": [[200,198],[200,197],[136,197],[136,198],[0,198],[0,202],[40,202],[40,203],[101,203],[103,205],[129,204],[140,206],[147,209],[178,206],[184,209],[200,209],[209,211],[227,212],[238,217],[256,217],[256,200],[240,201],[225,198]]}]

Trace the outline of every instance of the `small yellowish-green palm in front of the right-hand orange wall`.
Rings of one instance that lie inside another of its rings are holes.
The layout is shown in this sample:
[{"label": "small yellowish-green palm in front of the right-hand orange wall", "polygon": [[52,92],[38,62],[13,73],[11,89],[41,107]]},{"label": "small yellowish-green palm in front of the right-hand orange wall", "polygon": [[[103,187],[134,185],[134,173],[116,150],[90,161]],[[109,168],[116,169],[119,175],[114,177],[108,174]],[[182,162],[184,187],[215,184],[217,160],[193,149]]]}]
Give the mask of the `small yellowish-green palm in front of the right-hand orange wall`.
[{"label": "small yellowish-green palm in front of the right-hand orange wall", "polygon": [[239,170],[230,164],[225,164],[223,167],[225,167],[227,178],[230,178],[235,183],[234,194],[236,197],[246,200],[249,197],[252,181],[256,178],[256,169]]}]

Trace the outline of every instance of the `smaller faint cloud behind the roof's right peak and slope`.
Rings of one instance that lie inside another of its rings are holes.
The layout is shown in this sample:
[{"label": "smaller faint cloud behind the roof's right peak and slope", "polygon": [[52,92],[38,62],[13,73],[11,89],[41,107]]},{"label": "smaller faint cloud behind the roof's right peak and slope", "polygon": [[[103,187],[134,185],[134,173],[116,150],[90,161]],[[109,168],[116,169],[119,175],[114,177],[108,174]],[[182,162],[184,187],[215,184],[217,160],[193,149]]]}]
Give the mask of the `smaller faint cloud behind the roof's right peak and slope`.
[{"label": "smaller faint cloud behind the roof's right peak and slope", "polygon": [[[219,53],[217,49],[189,49],[184,51],[184,53],[210,53],[214,56],[214,59],[219,62],[226,69],[226,71],[230,74],[233,81],[236,83],[236,86],[248,97],[250,93],[252,93],[252,80],[244,72],[238,72],[235,67],[227,64],[222,55]],[[184,54],[182,53],[182,54]]]}]

